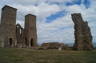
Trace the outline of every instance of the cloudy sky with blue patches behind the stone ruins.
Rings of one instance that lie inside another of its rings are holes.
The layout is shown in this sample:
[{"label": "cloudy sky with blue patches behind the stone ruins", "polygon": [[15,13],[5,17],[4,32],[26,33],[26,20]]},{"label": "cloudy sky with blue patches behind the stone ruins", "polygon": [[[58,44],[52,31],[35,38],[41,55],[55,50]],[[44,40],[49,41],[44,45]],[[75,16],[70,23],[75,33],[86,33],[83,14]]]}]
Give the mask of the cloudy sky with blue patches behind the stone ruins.
[{"label": "cloudy sky with blue patches behind the stone ruins", "polygon": [[74,43],[74,24],[71,13],[81,13],[91,27],[96,42],[96,0],[1,0],[1,8],[10,5],[17,8],[17,23],[24,26],[24,16],[37,16],[38,43]]}]

